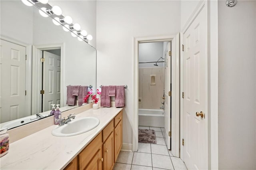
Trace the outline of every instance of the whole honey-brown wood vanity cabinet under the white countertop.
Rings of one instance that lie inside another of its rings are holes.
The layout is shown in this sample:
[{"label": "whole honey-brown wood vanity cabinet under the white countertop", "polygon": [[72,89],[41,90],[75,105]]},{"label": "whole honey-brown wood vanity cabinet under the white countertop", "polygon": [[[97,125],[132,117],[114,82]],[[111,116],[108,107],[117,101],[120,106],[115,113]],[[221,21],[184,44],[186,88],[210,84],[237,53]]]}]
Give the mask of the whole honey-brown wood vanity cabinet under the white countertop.
[{"label": "whole honey-brown wood vanity cabinet under the white countertop", "polygon": [[112,170],[122,148],[122,111],[64,170]]}]

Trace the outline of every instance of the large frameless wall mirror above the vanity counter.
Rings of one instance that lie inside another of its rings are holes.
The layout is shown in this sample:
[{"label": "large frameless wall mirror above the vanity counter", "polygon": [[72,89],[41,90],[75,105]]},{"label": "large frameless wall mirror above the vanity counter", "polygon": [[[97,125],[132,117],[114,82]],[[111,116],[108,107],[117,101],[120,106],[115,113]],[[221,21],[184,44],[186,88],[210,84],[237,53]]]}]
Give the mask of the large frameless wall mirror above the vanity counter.
[{"label": "large frameless wall mirror above the vanity counter", "polygon": [[95,91],[96,49],[88,40],[79,41],[21,0],[1,0],[0,19],[1,128],[48,116],[51,104],[61,111],[78,107],[66,105],[68,85]]}]

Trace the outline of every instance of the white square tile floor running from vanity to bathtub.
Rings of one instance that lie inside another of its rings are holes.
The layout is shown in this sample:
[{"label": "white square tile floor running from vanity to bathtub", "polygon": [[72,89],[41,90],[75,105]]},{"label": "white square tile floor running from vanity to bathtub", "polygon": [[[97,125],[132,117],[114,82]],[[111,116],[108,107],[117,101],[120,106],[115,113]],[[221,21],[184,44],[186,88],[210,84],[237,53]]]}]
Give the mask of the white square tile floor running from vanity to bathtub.
[{"label": "white square tile floor running from vanity to bathtub", "polygon": [[114,170],[187,170],[184,162],[167,149],[164,128],[139,128],[154,129],[157,143],[139,143],[138,152],[120,151]]}]

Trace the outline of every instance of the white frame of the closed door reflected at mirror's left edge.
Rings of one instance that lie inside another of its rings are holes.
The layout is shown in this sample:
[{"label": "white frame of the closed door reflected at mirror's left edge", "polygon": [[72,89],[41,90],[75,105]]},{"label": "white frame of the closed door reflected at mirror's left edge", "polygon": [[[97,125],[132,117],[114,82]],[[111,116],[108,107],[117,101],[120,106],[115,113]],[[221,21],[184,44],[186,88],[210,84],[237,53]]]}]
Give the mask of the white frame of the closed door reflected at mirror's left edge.
[{"label": "white frame of the closed door reflected at mirror's left edge", "polygon": [[26,116],[31,115],[31,93],[32,93],[32,45],[22,43],[18,40],[14,40],[12,38],[8,38],[6,36],[0,36],[1,40],[14,43],[17,45],[21,45],[26,47],[26,65],[25,65],[25,89],[26,89],[26,96],[25,96],[25,114]]}]

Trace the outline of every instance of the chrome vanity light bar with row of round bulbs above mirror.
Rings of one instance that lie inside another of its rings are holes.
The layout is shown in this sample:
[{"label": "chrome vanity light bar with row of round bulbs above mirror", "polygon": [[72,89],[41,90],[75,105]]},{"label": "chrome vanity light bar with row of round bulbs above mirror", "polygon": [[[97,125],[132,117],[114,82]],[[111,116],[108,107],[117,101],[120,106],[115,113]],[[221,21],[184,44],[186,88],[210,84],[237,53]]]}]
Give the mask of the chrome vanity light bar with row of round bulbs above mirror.
[{"label": "chrome vanity light bar with row of round bulbs above mirror", "polygon": [[58,6],[50,6],[48,0],[21,0],[26,6],[35,6],[38,8],[40,15],[52,18],[52,22],[59,26],[62,25],[63,30],[71,32],[73,37],[77,37],[79,41],[88,43],[92,40],[91,35],[87,35],[86,30],[80,30],[80,24],[72,24],[73,20],[70,16],[63,16],[62,10]]}]

